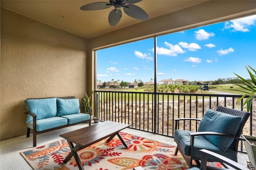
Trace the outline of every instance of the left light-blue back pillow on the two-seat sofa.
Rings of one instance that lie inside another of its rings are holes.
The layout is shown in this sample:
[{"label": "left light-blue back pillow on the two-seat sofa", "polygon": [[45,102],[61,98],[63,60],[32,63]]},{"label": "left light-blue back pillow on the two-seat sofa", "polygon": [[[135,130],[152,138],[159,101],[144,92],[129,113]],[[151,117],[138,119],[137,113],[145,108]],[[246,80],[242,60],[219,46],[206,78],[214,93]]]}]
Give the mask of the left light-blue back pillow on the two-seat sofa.
[{"label": "left light-blue back pillow on the two-seat sofa", "polygon": [[[55,117],[57,114],[56,98],[50,99],[27,99],[27,110],[36,114],[36,120]],[[31,115],[27,116],[26,123],[33,121]]]}]

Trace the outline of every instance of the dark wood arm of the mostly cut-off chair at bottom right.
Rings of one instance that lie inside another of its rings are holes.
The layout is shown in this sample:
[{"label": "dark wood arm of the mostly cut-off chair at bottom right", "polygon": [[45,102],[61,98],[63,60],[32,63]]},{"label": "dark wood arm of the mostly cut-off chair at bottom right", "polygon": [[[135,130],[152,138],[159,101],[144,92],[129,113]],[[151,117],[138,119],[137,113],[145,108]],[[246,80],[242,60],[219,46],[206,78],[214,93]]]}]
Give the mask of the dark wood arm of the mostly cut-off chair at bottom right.
[{"label": "dark wood arm of the mostly cut-off chair at bottom right", "polygon": [[231,166],[232,168],[235,168],[236,170],[248,170],[248,168],[238,164],[237,162],[230,160],[220,154],[216,154],[210,150],[202,149],[202,150],[199,150],[199,152],[201,152],[201,167],[200,167],[201,170],[209,169],[208,167],[206,167],[207,156],[213,157],[213,158],[219,160],[219,162],[225,163],[225,164]]}]

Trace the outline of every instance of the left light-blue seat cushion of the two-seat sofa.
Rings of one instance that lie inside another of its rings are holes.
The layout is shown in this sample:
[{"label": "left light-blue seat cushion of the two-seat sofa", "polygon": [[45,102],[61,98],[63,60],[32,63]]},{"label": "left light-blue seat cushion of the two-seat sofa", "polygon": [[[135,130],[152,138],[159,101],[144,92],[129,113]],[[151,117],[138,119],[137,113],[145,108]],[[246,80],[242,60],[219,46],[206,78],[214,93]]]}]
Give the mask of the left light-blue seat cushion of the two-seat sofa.
[{"label": "left light-blue seat cushion of the two-seat sofa", "polygon": [[[50,128],[59,127],[62,125],[67,125],[68,121],[67,119],[63,117],[50,117],[46,119],[40,119],[36,121],[36,131],[42,131],[47,130]],[[30,123],[27,123],[28,128],[33,128],[33,121]]]}]

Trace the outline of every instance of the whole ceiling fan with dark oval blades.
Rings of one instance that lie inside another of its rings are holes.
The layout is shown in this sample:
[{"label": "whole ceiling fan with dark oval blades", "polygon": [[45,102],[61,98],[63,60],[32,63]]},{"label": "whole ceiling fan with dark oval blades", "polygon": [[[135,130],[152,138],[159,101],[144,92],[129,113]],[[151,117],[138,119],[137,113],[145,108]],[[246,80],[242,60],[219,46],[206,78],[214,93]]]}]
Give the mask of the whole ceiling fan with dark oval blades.
[{"label": "whole ceiling fan with dark oval blades", "polygon": [[104,10],[110,6],[114,6],[115,9],[112,10],[108,15],[108,23],[110,26],[116,26],[122,17],[121,8],[124,8],[124,13],[128,16],[138,19],[138,20],[147,20],[148,14],[142,10],[142,8],[133,5],[142,0],[110,0],[108,2],[94,2],[81,6],[80,9],[84,11],[93,11],[93,10]]}]

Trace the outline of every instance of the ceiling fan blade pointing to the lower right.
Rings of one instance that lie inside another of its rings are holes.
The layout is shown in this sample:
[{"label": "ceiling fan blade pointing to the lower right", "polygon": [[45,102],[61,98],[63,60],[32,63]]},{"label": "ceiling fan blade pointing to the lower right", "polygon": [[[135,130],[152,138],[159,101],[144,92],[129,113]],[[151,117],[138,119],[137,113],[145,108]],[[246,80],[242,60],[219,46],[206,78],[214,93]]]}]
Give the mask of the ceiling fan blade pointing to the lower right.
[{"label": "ceiling fan blade pointing to the lower right", "polygon": [[147,20],[148,19],[148,14],[144,10],[142,10],[142,8],[140,8],[136,5],[128,4],[128,5],[124,6],[124,12],[128,16],[138,19],[138,20]]}]

